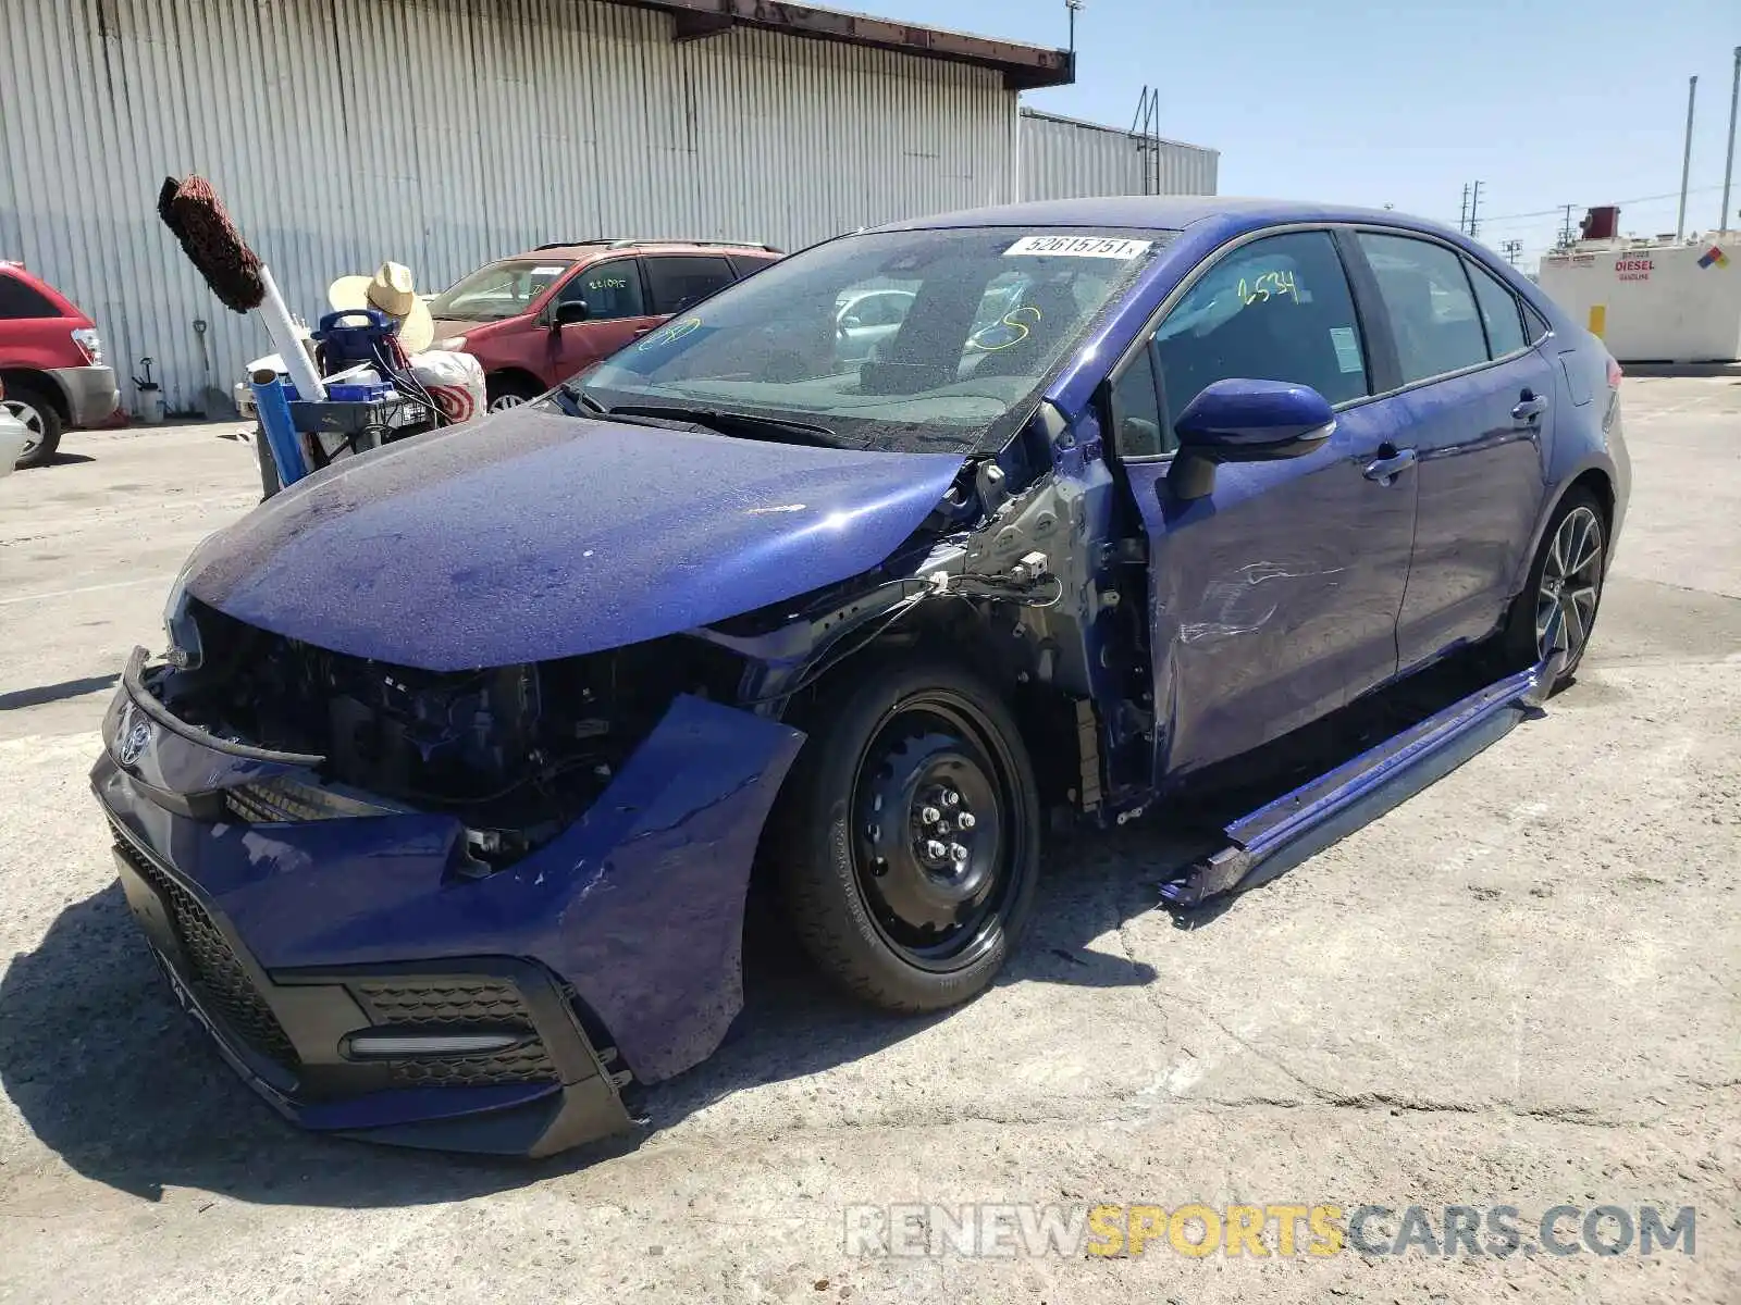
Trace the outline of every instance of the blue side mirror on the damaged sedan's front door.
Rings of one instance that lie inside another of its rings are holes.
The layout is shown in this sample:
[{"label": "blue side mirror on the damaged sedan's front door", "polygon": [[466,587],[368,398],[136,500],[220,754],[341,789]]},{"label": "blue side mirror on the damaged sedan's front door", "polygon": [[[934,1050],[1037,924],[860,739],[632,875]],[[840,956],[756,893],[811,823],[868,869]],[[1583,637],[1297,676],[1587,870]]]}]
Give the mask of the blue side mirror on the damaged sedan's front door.
[{"label": "blue side mirror on the damaged sedan's front door", "polygon": [[1179,454],[1166,475],[1173,494],[1205,498],[1220,463],[1299,458],[1335,430],[1330,400],[1309,385],[1229,378],[1203,386],[1173,423]]}]

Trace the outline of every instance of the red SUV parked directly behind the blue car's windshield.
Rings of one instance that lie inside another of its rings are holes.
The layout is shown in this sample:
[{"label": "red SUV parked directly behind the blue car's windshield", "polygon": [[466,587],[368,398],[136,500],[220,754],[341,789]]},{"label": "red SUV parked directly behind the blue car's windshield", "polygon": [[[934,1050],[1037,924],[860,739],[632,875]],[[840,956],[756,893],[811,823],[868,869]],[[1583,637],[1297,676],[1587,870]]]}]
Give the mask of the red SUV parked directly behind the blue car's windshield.
[{"label": "red SUV parked directly behind the blue car's windshield", "polygon": [[517,407],[778,258],[723,240],[538,245],[437,294],[435,348],[484,365],[491,411]]}]

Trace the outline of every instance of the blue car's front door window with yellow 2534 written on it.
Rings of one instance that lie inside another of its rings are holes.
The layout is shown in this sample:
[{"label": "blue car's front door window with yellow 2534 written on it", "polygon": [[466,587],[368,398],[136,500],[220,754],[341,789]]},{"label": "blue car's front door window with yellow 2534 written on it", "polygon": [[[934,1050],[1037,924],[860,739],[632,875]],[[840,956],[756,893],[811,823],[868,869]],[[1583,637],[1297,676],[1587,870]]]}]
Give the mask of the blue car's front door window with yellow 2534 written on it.
[{"label": "blue car's front door window with yellow 2534 written on it", "polygon": [[1234,249],[1186,291],[1154,332],[1154,350],[1166,447],[1179,414],[1210,381],[1295,381],[1332,404],[1368,393],[1360,322],[1328,231]]}]

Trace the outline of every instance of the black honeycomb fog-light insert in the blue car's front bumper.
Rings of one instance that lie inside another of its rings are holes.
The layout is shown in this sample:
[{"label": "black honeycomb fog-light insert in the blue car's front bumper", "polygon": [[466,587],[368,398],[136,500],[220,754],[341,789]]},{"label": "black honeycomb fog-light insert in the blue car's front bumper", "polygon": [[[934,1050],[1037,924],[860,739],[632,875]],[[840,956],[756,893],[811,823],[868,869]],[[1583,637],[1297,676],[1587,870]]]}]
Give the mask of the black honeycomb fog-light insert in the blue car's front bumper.
[{"label": "black honeycomb fog-light insert in the blue car's front bumper", "polygon": [[395,1060],[404,1088],[475,1088],[498,1082],[555,1082],[555,1065],[512,983],[493,978],[360,980],[352,992],[381,1025],[395,1028],[487,1027],[522,1035],[517,1046],[484,1056]]}]

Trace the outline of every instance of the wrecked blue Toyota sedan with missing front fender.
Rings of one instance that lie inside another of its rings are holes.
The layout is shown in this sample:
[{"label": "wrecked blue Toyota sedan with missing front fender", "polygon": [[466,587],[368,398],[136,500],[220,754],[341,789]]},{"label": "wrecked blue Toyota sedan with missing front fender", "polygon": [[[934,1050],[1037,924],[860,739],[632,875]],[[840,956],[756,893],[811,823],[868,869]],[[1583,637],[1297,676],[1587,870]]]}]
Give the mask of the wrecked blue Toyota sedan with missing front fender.
[{"label": "wrecked blue Toyota sedan with missing front fender", "polygon": [[[752,875],[832,980],[938,1009],[1017,947],[1043,828],[1189,823],[1320,757],[1158,867],[1189,905],[1537,706],[1624,517],[1619,383],[1391,212],[1104,198],[817,245],[200,545],[92,771],[127,900],[308,1128],[623,1129],[738,1013]],[[1485,672],[1297,746],[1454,661]]]}]

